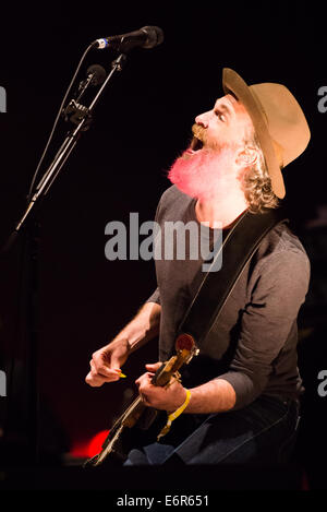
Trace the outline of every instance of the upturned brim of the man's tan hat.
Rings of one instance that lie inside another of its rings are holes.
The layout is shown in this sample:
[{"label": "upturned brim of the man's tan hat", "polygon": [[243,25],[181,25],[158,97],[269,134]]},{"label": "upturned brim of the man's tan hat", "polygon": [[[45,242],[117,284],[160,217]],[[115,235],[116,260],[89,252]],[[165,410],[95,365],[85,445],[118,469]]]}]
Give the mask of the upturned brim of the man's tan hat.
[{"label": "upturned brim of the man's tan hat", "polygon": [[263,150],[266,166],[271,179],[272,190],[278,198],[284,198],[284,182],[261,102],[254,96],[244,80],[230,68],[222,70],[222,87],[226,94],[232,93],[246,108]]}]

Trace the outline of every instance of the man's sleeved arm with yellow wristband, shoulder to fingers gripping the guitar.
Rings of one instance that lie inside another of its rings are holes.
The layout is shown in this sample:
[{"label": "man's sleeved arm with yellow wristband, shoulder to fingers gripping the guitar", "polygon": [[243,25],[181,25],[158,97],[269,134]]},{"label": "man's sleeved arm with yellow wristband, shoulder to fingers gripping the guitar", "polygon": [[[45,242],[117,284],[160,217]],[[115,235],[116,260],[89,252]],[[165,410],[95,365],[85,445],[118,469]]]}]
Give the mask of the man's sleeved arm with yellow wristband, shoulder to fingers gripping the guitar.
[{"label": "man's sleeved arm with yellow wristband, shoulder to fingers gripping the guitar", "polygon": [[[308,262],[303,253],[280,251],[264,262],[242,317],[238,346],[229,370],[191,391],[185,413],[219,413],[242,408],[263,393],[304,301]],[[294,350],[295,348],[293,348]],[[147,366],[152,372],[156,365]],[[179,383],[167,390],[150,385],[150,373],[136,382],[145,404],[166,410],[179,408],[186,391]]]}]

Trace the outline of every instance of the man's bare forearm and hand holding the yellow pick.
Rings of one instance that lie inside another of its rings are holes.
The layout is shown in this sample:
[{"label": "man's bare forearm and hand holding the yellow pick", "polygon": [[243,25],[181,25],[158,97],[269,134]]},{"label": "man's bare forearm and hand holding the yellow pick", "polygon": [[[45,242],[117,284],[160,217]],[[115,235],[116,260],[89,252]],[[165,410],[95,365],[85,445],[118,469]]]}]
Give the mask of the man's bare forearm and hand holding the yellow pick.
[{"label": "man's bare forearm and hand holding the yellow pick", "polygon": [[146,302],[112,342],[95,352],[89,361],[90,371],[85,378],[87,384],[100,386],[119,380],[119,370],[129,355],[158,334],[160,312],[158,303]]}]

